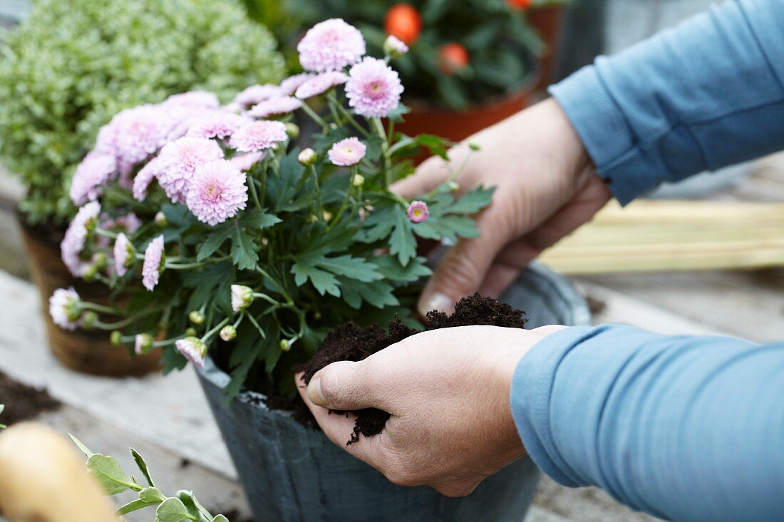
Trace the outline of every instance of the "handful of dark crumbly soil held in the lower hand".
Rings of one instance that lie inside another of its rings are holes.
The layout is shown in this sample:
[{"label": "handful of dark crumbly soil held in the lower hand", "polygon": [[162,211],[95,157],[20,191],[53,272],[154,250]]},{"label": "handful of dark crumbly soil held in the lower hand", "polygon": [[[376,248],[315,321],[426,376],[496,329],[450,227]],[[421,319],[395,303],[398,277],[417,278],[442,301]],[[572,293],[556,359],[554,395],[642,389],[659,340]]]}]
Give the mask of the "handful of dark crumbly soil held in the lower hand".
[{"label": "handful of dark crumbly soil held in the lower hand", "polygon": [[[437,330],[438,328],[476,324],[524,328],[524,314],[521,310],[515,310],[506,303],[474,294],[460,299],[455,306],[455,313],[452,315],[437,311],[428,312],[426,329]],[[305,382],[310,383],[313,375],[328,364],[336,361],[361,361],[365,357],[417,333],[419,330],[409,327],[400,319],[390,321],[388,332],[376,324],[365,328],[354,323],[341,324],[327,334],[324,343],[321,344],[310,361],[299,364],[294,369],[296,372],[305,372]],[[336,411],[336,413],[345,412]],[[370,437],[381,433],[390,418],[389,413],[376,408],[354,411],[354,415],[357,415],[357,422],[354,424],[354,433],[351,434],[346,445],[358,442],[360,434]]]}]

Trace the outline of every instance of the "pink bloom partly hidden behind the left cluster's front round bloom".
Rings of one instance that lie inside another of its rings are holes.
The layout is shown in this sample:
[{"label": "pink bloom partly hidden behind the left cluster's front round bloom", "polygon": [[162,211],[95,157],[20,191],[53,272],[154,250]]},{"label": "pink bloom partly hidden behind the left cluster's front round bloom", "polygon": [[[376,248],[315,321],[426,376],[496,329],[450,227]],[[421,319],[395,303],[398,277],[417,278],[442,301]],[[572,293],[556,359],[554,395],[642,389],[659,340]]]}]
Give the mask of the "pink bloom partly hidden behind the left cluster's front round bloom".
[{"label": "pink bloom partly hidden behind the left cluster's front round bloom", "polygon": [[158,183],[174,203],[184,201],[198,166],[220,158],[223,149],[214,140],[184,136],[168,143],[158,154]]}]

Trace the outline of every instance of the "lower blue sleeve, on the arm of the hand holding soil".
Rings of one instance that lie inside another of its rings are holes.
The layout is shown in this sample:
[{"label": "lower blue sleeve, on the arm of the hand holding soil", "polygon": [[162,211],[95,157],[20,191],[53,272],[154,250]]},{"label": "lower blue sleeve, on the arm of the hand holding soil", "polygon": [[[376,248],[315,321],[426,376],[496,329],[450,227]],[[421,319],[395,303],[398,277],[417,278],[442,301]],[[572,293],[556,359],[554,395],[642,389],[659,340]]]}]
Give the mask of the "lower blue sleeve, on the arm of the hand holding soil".
[{"label": "lower blue sleeve, on the arm of the hand holding soil", "polygon": [[784,519],[784,343],[567,328],[521,359],[511,404],[561,484],[669,520]]}]

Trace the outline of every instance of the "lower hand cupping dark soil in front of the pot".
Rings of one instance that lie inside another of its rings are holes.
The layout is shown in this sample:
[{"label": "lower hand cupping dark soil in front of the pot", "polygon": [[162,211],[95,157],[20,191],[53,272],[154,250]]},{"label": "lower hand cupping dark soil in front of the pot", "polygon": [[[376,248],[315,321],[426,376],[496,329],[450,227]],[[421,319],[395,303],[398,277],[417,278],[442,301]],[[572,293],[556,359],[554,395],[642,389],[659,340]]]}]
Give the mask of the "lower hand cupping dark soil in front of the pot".
[{"label": "lower hand cupping dark soil in front of the pot", "polygon": [[[468,495],[485,477],[524,455],[510,410],[517,362],[564,326],[535,330],[464,326],[413,335],[360,362],[321,369],[299,393],[332,442],[395,484],[427,484]],[[329,409],[379,408],[383,432],[346,446],[354,416]]]}]

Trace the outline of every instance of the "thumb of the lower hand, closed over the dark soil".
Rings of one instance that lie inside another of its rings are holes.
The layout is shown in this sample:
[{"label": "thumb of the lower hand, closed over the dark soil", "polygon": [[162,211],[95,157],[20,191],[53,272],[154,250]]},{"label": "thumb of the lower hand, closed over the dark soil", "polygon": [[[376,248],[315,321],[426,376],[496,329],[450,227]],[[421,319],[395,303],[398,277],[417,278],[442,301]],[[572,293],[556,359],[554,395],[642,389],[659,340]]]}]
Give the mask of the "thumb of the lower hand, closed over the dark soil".
[{"label": "thumb of the lower hand, closed over the dark soil", "polygon": [[307,385],[310,402],[331,410],[379,408],[378,383],[368,377],[364,361],[339,361],[321,368]]}]

